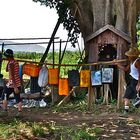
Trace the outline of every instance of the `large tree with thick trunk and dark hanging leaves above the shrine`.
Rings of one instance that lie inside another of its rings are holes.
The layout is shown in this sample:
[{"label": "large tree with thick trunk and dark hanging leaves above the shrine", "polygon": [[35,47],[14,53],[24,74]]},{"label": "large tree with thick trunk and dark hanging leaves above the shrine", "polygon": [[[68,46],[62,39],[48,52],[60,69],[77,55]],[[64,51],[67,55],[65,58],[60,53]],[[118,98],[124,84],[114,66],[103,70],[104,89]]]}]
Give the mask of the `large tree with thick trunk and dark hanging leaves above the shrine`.
[{"label": "large tree with thick trunk and dark hanging leaves above the shrine", "polygon": [[[71,41],[81,31],[85,38],[106,24],[129,34],[136,39],[136,18],[140,0],[33,0],[55,8],[60,21],[69,31]],[[77,24],[78,23],[78,24]],[[80,28],[80,30],[79,30]]]}]

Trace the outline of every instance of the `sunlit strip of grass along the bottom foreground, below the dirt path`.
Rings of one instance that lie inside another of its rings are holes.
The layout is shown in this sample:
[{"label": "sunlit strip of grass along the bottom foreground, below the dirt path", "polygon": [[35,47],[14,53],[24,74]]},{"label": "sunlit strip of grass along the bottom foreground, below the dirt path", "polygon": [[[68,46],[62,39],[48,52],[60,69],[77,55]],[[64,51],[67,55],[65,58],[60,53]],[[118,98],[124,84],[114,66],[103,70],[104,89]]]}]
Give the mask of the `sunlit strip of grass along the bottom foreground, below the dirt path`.
[{"label": "sunlit strip of grass along the bottom foreground, below the dirt path", "polygon": [[60,140],[95,139],[102,133],[102,128],[71,127],[56,125],[51,121],[46,124],[37,122],[22,122],[14,119],[9,123],[0,124],[0,138],[6,139],[33,139],[34,137],[53,137]]}]

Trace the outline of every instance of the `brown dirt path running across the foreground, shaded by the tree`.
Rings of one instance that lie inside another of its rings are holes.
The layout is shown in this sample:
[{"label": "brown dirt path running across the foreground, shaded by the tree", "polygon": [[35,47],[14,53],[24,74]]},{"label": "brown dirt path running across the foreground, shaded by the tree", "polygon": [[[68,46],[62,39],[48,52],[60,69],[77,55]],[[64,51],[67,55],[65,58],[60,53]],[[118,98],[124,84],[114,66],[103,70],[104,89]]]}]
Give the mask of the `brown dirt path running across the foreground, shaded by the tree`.
[{"label": "brown dirt path running across the foreground, shaded by the tree", "polygon": [[[54,121],[59,125],[81,125],[88,124],[90,127],[103,129],[99,136],[100,140],[140,140],[140,114],[130,113],[127,117],[123,113],[106,111],[108,106],[104,105],[96,112],[82,112],[77,110],[54,112],[51,108],[25,108],[22,121],[50,122]],[[7,121],[14,116],[15,109],[9,109],[9,116],[0,118],[0,122]],[[49,138],[46,138],[49,140]]]}]

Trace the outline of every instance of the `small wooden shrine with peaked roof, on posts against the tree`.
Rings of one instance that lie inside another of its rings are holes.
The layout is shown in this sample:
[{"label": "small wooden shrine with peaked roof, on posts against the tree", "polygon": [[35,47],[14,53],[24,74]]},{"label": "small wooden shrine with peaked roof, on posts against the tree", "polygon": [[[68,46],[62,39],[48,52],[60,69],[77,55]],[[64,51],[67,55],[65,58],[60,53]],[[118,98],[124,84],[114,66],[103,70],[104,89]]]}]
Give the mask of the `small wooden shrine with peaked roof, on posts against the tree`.
[{"label": "small wooden shrine with peaked roof, on posts against the tree", "polygon": [[[125,52],[129,49],[131,38],[124,32],[116,29],[112,25],[106,25],[86,38],[88,44],[88,62],[112,61],[114,59],[124,59]],[[118,107],[121,104],[124,93],[124,72],[118,70]],[[91,87],[90,87],[91,88]],[[93,91],[89,90],[89,100],[93,98]],[[92,101],[89,101],[89,108]]]}]

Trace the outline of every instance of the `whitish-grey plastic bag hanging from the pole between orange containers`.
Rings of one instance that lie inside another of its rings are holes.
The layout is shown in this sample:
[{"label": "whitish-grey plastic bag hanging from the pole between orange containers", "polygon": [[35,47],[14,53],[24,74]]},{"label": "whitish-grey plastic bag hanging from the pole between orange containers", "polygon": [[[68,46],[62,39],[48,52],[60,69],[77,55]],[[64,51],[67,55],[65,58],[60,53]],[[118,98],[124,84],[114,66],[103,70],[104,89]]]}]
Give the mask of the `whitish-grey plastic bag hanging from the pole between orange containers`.
[{"label": "whitish-grey plastic bag hanging from the pole between orange containers", "polygon": [[41,70],[39,71],[38,85],[40,87],[45,87],[47,84],[48,84],[48,68],[43,65]]}]

